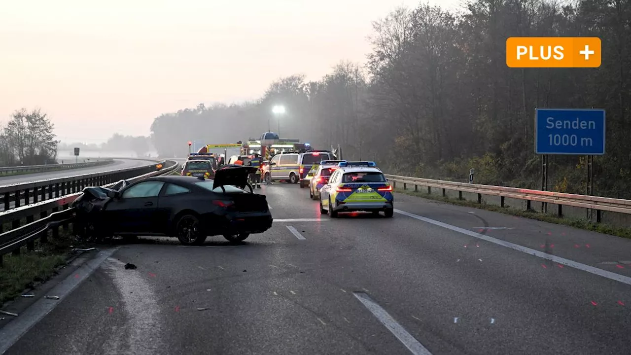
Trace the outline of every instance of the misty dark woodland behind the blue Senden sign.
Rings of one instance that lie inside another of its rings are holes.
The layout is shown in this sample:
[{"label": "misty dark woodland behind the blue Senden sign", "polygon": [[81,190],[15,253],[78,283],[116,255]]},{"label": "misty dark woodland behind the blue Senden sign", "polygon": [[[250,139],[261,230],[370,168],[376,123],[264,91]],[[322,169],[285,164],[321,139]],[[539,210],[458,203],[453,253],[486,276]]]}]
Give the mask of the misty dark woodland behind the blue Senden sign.
[{"label": "misty dark woodland behind the blue Senden sign", "polygon": [[[423,178],[541,188],[534,109],[606,109],[606,155],[594,159],[594,193],[630,198],[631,2],[475,0],[460,11],[420,4],[373,23],[367,63],[345,61],[318,81],[292,75],[261,99],[156,117],[151,140],[162,155],[186,141],[224,143],[278,130],[314,147],[341,144],[346,159]],[[508,68],[509,37],[599,37],[595,69]],[[586,159],[551,156],[549,190],[586,191]]]}]

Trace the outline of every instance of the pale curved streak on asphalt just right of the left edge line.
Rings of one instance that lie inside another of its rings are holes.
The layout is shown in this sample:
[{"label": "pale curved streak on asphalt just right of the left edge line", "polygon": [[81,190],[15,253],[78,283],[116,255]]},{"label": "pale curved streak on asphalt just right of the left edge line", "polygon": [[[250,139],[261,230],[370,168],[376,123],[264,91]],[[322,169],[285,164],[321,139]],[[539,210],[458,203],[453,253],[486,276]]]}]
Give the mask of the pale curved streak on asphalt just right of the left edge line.
[{"label": "pale curved streak on asphalt just right of the left edge line", "polygon": [[125,331],[121,328],[121,334],[115,338],[119,342],[122,340],[122,344],[110,344],[107,346],[107,354],[121,354],[124,347],[127,347],[131,354],[156,354],[165,348],[158,298],[143,274],[128,272],[124,265],[124,262],[114,258],[108,258],[103,263],[103,268],[119,291],[127,315]]}]

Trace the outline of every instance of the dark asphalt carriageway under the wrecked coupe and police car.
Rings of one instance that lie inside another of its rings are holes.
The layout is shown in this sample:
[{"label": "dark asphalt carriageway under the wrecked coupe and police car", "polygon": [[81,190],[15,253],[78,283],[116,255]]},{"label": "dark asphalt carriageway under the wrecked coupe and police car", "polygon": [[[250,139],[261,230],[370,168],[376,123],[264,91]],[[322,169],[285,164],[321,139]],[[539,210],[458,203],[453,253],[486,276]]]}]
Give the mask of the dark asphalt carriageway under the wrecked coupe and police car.
[{"label": "dark asphalt carriageway under the wrecked coupe and police car", "polygon": [[631,240],[406,195],[392,219],[329,219],[297,185],[262,192],[274,225],[243,244],[105,246],[6,354],[631,352]]}]

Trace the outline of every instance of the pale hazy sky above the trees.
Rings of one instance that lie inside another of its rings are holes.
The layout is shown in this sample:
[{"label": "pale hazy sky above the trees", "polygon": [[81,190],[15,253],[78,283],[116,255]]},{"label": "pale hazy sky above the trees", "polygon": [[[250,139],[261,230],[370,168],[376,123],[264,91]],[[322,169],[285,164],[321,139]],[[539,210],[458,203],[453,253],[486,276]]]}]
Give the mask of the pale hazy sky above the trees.
[{"label": "pale hazy sky above the trees", "polygon": [[20,107],[39,107],[62,141],[148,135],[153,118],[165,112],[256,99],[276,78],[303,73],[317,80],[342,59],[363,64],[371,21],[416,4],[6,0],[0,121]]}]

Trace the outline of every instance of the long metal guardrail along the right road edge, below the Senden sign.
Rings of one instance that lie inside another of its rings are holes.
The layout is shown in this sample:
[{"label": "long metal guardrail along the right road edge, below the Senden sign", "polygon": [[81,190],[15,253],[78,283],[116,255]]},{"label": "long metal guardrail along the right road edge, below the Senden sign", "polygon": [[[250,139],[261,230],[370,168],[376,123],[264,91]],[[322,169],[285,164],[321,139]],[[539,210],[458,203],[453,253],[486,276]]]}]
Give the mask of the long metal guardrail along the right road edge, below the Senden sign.
[{"label": "long metal guardrail along the right road edge, below the Senden sign", "polygon": [[557,205],[558,217],[563,217],[563,206],[581,207],[596,211],[596,222],[601,221],[601,211],[618,212],[620,214],[631,214],[631,200],[623,200],[622,198],[609,198],[601,196],[575,195],[572,193],[560,193],[552,191],[529,190],[520,188],[509,188],[505,186],[480,185],[469,183],[458,183],[454,181],[442,181],[423,178],[411,178],[410,176],[387,175],[388,181],[392,182],[392,186],[396,188],[396,184],[403,184],[405,190],[408,185],[428,188],[431,193],[432,188],[442,189],[442,195],[445,196],[445,190],[459,191],[459,199],[463,199],[463,192],[478,194],[478,203],[482,202],[482,195],[500,196],[501,206],[504,207],[504,198],[514,198],[517,200],[526,200],[526,208],[531,209],[531,202],[551,203]]}]

